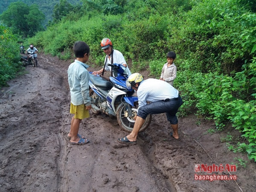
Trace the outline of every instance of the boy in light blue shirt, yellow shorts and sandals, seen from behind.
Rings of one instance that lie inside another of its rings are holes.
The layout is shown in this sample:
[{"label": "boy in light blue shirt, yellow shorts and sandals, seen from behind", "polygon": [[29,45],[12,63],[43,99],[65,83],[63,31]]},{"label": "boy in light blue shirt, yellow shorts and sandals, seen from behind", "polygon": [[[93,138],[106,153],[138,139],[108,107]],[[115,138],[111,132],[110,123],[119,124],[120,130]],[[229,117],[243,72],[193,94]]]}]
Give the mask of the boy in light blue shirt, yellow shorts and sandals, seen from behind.
[{"label": "boy in light blue shirt, yellow shorts and sandals, seen from behind", "polygon": [[81,120],[90,117],[89,72],[87,71],[89,66],[85,64],[89,59],[90,47],[83,41],[76,41],[73,51],[76,60],[67,70],[71,97],[70,113],[74,114],[68,137],[70,137],[70,144],[84,145],[89,140],[79,135],[78,131]]}]

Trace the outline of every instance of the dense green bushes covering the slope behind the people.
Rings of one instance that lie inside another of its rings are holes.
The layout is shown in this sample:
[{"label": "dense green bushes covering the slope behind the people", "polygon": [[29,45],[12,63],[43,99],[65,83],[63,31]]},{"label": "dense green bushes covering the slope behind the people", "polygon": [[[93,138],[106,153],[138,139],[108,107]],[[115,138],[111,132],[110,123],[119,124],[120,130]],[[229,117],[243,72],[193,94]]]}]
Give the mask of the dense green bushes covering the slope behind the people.
[{"label": "dense green bushes covering the slope behind the people", "polygon": [[[65,1],[61,1],[62,3]],[[81,7],[56,6],[59,14],[34,42],[44,52],[73,58],[72,46],[90,45],[90,63],[103,65],[100,41],[108,37],[132,63],[160,77],[166,53],[175,51],[174,86],[184,104],[180,115],[232,125],[245,140],[233,149],[256,161],[256,14],[253,0],[83,0]],[[236,150],[235,149],[235,150]]]}]

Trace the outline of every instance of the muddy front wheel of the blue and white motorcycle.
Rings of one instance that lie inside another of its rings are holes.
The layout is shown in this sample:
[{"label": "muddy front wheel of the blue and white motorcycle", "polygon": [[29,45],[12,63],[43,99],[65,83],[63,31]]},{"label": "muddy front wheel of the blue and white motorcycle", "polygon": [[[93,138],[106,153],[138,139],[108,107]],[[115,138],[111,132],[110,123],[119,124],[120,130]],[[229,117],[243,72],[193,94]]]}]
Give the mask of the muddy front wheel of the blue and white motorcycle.
[{"label": "muddy front wheel of the blue and white motorcycle", "polygon": [[[137,115],[137,108],[131,108],[134,115]],[[127,132],[131,132],[134,128],[134,123],[135,123],[135,119],[133,117],[125,117],[125,105],[123,103],[121,103],[117,110],[116,110],[116,118],[117,118],[117,122],[118,124],[122,127],[122,129],[124,131]],[[146,128],[148,128],[150,122],[152,119],[152,115],[149,114],[147,116],[147,118],[145,119],[144,124],[142,125],[142,127],[140,128],[139,132],[144,131]]]}]

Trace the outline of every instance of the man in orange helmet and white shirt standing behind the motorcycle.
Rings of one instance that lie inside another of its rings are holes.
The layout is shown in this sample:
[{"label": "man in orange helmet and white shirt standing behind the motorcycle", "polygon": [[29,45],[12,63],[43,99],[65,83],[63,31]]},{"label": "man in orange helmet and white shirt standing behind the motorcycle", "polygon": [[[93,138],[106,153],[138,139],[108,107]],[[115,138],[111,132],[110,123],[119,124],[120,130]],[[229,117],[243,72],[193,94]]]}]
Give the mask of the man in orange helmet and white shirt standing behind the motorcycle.
[{"label": "man in orange helmet and white shirt standing behind the motorcycle", "polygon": [[[120,51],[113,49],[113,44],[109,38],[102,39],[100,46],[106,54],[106,58],[105,58],[105,62],[104,62],[105,64],[101,70],[94,71],[93,75],[102,74],[102,76],[103,76],[105,71],[111,71],[111,73],[112,73],[111,66],[108,66],[108,64],[113,64],[113,63],[122,64],[124,67],[126,67],[126,70],[129,74],[129,76],[131,75],[131,71],[129,70],[129,68],[126,64],[124,56],[122,55],[122,53]],[[114,74],[112,73],[111,76],[114,77]]]}]

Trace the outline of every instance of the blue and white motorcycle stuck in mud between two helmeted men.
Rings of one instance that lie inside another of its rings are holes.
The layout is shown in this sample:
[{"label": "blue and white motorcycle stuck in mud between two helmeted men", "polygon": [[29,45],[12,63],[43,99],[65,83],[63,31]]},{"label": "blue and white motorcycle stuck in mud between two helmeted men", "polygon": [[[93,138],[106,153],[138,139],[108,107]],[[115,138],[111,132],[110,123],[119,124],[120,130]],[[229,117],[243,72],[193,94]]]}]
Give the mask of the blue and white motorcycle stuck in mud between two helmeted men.
[{"label": "blue and white motorcycle stuck in mud between two helmeted men", "polygon": [[[118,124],[125,131],[131,132],[134,128],[138,109],[138,97],[133,89],[127,89],[126,80],[128,73],[121,64],[108,64],[113,69],[115,77],[109,77],[110,81],[90,72],[90,102],[91,111],[95,114],[103,112],[110,116],[116,116]],[[151,115],[145,119],[140,132],[148,128]]]}]

